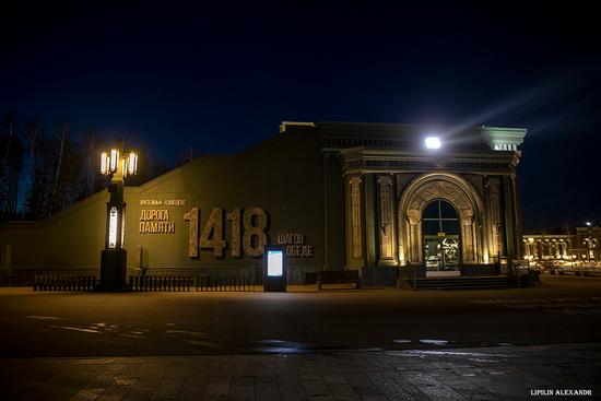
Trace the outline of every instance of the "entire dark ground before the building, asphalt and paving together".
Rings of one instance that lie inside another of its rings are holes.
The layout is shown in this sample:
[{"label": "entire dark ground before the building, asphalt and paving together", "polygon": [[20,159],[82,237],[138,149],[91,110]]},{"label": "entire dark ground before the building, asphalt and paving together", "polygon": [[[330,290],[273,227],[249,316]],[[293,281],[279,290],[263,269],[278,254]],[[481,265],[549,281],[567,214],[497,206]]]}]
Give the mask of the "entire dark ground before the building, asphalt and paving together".
[{"label": "entire dark ground before the building, asphalt and paving together", "polygon": [[1,400],[599,398],[601,279],[533,288],[0,288]]}]

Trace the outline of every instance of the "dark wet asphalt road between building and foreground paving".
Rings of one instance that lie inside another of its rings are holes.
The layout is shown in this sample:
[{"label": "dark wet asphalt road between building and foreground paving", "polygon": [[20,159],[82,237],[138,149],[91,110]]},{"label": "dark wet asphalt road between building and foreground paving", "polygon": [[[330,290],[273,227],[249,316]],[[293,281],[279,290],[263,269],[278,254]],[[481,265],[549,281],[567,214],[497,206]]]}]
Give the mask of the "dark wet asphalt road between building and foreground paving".
[{"label": "dark wet asphalt road between building and foreground paving", "polygon": [[601,342],[601,279],[533,288],[38,293],[0,288],[0,353],[216,355]]}]

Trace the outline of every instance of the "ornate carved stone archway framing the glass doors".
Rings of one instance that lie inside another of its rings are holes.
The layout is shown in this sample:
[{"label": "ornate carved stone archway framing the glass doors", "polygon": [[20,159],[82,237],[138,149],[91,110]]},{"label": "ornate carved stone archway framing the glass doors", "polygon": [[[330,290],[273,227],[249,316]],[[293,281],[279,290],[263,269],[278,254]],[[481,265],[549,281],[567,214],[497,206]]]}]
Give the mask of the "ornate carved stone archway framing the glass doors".
[{"label": "ornate carved stone archway framing the glass doors", "polygon": [[401,263],[421,263],[422,214],[434,199],[452,203],[461,223],[461,251],[463,262],[478,263],[486,249],[480,227],[484,225],[484,207],[478,191],[455,174],[424,174],[413,179],[399,201],[399,256]]}]

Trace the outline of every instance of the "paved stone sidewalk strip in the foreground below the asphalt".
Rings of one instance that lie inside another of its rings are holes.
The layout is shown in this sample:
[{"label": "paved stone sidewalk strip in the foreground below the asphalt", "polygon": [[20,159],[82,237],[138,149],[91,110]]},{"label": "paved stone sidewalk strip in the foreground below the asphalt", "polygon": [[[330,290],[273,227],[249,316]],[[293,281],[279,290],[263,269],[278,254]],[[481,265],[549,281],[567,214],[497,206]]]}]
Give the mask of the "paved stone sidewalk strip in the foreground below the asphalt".
[{"label": "paved stone sidewalk strip in the foreground below the asphalt", "polygon": [[[274,350],[278,352],[278,350]],[[601,394],[601,344],[0,359],[2,400],[517,400]],[[568,393],[568,392],[564,392]]]}]

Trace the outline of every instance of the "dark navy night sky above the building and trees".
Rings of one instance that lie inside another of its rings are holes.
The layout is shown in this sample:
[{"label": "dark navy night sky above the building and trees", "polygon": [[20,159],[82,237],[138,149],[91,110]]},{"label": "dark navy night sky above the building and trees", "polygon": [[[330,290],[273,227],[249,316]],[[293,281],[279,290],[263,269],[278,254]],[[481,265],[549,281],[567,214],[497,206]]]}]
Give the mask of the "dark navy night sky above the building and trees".
[{"label": "dark navy night sky above the building and trees", "polygon": [[282,120],[522,127],[525,228],[601,224],[592,5],[400,3],[3,3],[0,111],[91,125],[170,164]]}]

